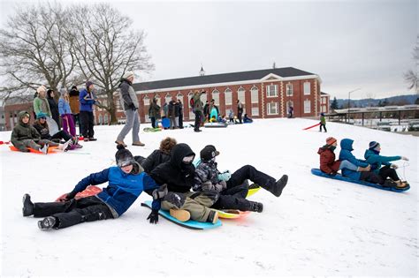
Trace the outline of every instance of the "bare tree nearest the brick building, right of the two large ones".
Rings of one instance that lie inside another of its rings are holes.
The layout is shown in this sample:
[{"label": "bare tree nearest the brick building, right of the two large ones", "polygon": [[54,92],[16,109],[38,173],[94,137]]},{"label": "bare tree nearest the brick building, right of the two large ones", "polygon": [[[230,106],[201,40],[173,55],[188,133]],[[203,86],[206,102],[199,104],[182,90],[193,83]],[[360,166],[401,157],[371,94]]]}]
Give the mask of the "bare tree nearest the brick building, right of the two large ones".
[{"label": "bare tree nearest the brick building, right of the two large ones", "polygon": [[151,71],[154,65],[144,46],[143,31],[132,30],[133,21],[109,4],[73,6],[71,19],[72,52],[80,71],[94,79],[107,101],[99,104],[110,113],[110,123],[118,122],[115,93],[126,71]]}]

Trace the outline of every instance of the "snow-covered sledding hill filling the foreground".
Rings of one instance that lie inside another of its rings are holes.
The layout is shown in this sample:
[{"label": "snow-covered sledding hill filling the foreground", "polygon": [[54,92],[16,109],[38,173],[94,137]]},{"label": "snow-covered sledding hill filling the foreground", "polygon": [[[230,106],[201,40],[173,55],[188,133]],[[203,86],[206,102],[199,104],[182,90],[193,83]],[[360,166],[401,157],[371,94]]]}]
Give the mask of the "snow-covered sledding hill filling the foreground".
[{"label": "snow-covered sledding hill filling the foreground", "polygon": [[[289,176],[281,197],[260,191],[250,198],[263,202],[262,214],[205,231],[163,218],[149,224],[150,211],[140,206],[149,199],[145,193],[117,220],[45,232],[37,228],[37,219],[22,217],[24,193],[34,201],[54,200],[82,177],[115,165],[113,142],[121,125],[95,126],[98,141],[65,154],[23,154],[0,146],[1,276],[416,277],[419,139],[335,123],[327,124],[328,133],[301,130],[312,124],[272,119],[200,133],[141,131],[146,147],[132,147],[127,138],[133,154],[146,156],[171,136],[198,155],[205,145],[215,145],[221,152],[219,169],[252,164],[276,178]],[[0,132],[0,140],[9,140],[10,134]],[[407,156],[410,162],[399,173],[411,189],[386,192],[311,175],[310,169],[318,168],[317,149],[329,136],[354,139],[360,158],[371,140],[381,143],[384,155]]]}]

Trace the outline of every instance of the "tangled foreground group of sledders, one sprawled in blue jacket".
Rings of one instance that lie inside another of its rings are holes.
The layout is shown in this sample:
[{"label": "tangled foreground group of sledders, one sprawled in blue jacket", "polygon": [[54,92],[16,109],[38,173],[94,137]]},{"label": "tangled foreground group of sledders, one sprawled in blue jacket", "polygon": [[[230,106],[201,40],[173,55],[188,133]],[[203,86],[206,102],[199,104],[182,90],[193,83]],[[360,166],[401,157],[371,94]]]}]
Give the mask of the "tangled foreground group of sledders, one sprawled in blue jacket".
[{"label": "tangled foreground group of sledders, one sprawled in blue jacket", "polygon": [[[61,202],[33,203],[23,197],[23,216],[44,217],[40,229],[63,229],[81,222],[118,218],[145,191],[152,196],[149,222],[158,222],[158,210],[168,210],[181,222],[217,222],[220,209],[261,213],[263,204],[246,199],[248,189],[260,186],[279,197],[288,177],[278,181],[245,165],[234,173],[217,169],[216,147],[209,145],[195,159],[192,149],[176,139],[166,138],[147,158],[133,156],[123,145],[115,154],[117,166],[84,177]],[[254,184],[248,184],[250,180]],[[88,185],[109,185],[95,196],[75,199]]]}]

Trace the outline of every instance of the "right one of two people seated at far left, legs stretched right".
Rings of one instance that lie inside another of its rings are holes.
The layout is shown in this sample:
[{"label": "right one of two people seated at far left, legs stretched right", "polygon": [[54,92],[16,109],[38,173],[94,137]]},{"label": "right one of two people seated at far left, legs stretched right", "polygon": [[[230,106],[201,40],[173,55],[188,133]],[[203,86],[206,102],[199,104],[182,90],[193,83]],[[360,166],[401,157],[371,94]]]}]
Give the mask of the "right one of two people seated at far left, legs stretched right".
[{"label": "right one of two people seated at far left, legs stretched right", "polygon": [[50,128],[47,124],[47,114],[45,113],[41,112],[36,115],[36,120],[33,126],[36,129],[36,131],[38,131],[38,133],[41,135],[41,139],[47,139],[56,143],[59,143],[61,139],[63,139],[65,142],[70,140],[70,149],[82,147],[79,144],[79,139],[77,137],[72,137],[64,130],[58,131],[56,134],[51,136]]}]

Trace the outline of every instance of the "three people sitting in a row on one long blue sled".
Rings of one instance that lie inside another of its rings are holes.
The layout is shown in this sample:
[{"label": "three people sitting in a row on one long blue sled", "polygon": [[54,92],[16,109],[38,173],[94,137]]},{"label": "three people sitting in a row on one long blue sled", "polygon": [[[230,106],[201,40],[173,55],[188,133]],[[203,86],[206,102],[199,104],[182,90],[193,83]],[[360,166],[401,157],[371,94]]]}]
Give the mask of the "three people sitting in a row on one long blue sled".
[{"label": "three people sitting in a row on one long blue sled", "polygon": [[355,181],[365,181],[372,184],[380,184],[383,187],[403,189],[409,186],[408,182],[401,181],[397,175],[398,166],[391,162],[404,160],[405,156],[381,155],[381,146],[377,141],[369,142],[369,148],[365,151],[365,160],[357,159],[352,154],[354,140],[342,139],[340,141],[339,160],[336,161],[334,150],[338,146],[337,139],[329,137],[326,145],[318,149],[320,154],[320,169],[331,176],[335,176],[339,170],[343,177]]}]

